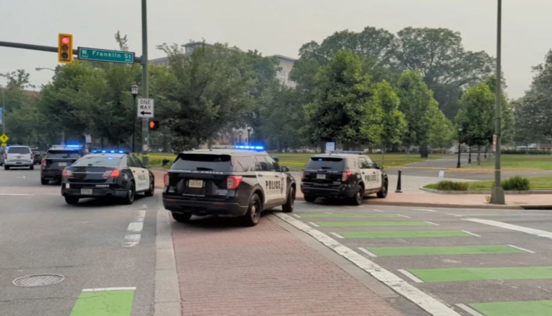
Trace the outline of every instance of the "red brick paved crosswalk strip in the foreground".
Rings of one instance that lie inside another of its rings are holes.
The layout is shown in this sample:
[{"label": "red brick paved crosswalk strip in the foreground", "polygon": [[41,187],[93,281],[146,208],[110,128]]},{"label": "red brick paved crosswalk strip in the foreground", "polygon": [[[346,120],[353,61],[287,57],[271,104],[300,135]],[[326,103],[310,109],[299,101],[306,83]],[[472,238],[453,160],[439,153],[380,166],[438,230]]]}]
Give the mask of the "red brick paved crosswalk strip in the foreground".
[{"label": "red brick paved crosswalk strip in the foreground", "polygon": [[171,229],[182,315],[401,315],[266,217]]}]

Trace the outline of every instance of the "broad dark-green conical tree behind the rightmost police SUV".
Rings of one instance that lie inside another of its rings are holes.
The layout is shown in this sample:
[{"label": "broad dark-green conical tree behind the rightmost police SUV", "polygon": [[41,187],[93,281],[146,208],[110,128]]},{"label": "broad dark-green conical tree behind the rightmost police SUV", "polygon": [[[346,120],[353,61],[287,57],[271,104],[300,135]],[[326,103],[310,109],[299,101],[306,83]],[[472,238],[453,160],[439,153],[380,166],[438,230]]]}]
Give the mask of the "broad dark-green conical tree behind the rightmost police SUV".
[{"label": "broad dark-green conical tree behind the rightmost police SUV", "polygon": [[338,141],[351,147],[380,142],[383,110],[370,102],[371,80],[362,58],[339,51],[316,75],[312,103],[305,105],[310,140]]}]

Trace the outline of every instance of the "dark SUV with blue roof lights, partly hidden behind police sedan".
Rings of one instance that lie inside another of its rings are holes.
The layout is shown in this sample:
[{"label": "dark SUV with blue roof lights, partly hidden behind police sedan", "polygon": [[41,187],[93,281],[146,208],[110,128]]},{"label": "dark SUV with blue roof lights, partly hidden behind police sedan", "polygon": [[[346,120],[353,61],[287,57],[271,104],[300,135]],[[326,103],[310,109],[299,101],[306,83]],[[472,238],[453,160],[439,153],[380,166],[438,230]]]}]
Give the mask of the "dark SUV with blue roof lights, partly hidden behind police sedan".
[{"label": "dark SUV with blue roof lights, partly hidden behind police sedan", "polygon": [[86,152],[80,146],[52,146],[40,166],[40,183],[46,185],[50,180],[61,181],[63,169],[84,155]]}]

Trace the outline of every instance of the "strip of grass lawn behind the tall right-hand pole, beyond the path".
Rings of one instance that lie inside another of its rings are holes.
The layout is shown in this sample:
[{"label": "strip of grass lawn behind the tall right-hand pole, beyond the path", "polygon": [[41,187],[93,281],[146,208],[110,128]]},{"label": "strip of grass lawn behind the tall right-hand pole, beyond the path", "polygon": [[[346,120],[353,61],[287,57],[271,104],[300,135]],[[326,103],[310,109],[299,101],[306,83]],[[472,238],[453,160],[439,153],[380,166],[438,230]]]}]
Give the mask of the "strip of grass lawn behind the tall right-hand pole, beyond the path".
[{"label": "strip of grass lawn behind the tall right-hand pole, beyond the path", "polygon": [[[486,160],[482,157],[481,155],[481,165],[477,165],[477,154],[472,154],[469,168],[495,167],[495,156]],[[501,164],[504,169],[552,170],[552,155],[502,154]]]}]

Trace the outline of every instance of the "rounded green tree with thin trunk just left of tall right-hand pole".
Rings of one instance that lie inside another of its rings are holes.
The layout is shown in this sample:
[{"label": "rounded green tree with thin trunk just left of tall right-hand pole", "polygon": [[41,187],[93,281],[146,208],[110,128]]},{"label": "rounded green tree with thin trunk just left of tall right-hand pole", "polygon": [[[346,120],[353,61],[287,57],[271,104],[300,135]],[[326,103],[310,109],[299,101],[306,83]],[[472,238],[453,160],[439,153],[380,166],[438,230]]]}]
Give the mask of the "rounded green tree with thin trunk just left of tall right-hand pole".
[{"label": "rounded green tree with thin trunk just left of tall right-hand pole", "polygon": [[[495,95],[489,85],[481,82],[470,87],[460,99],[460,110],[456,120],[463,128],[463,141],[469,146],[486,144],[492,138],[494,128]],[[480,164],[480,150],[477,151],[477,164]]]}]

